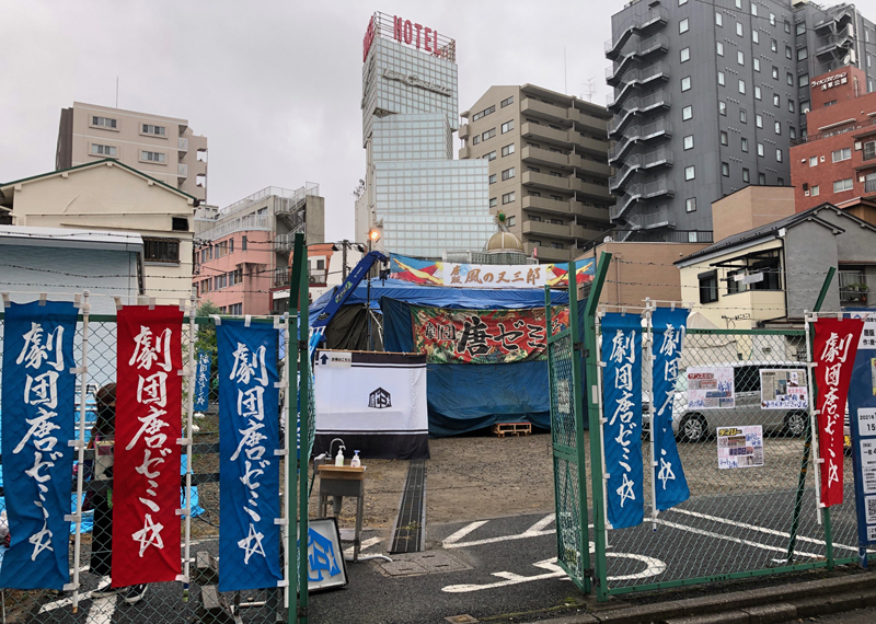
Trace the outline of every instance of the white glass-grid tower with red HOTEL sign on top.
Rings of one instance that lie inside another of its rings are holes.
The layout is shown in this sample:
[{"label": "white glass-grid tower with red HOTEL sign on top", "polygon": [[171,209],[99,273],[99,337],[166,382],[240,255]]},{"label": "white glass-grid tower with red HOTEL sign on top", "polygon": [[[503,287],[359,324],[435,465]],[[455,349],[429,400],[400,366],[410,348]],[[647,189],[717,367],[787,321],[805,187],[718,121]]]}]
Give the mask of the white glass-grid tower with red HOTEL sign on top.
[{"label": "white glass-grid tower with red HOTEL sign on top", "polygon": [[495,232],[486,161],[453,160],[459,128],[456,42],[403,18],[374,13],[364,39],[365,192],[356,236],[378,247],[441,258],[480,250]]}]

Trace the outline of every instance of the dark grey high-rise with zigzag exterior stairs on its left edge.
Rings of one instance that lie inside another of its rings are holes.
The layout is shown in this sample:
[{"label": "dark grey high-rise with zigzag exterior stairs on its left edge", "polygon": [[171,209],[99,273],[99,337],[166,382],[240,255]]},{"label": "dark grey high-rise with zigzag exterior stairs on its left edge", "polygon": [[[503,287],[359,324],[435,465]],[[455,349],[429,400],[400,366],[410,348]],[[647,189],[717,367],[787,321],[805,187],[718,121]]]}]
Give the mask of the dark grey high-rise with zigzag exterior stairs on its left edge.
[{"label": "dark grey high-rise with zigzag exterior stairs on its left edge", "polygon": [[853,4],[634,0],[606,56],[612,221],[654,240],[711,235],[711,204],[749,184],[791,184],[809,78],[851,65],[876,78],[876,31]]}]

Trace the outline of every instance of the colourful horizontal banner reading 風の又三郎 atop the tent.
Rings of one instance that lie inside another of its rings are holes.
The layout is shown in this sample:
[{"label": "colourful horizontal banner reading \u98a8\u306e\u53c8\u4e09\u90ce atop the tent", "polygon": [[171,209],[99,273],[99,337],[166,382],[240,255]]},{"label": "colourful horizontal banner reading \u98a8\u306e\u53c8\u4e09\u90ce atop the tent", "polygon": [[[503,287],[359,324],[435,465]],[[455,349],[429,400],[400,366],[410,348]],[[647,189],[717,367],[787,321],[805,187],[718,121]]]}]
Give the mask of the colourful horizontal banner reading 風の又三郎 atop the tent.
[{"label": "colourful horizontal banner reading \u98a8\u306e\u53c8\u4e09\u90ce atop the tent", "polygon": [[[578,261],[577,284],[593,280],[596,259]],[[423,261],[390,255],[390,277],[426,286],[458,288],[543,288],[567,287],[568,263],[496,265]]]}]

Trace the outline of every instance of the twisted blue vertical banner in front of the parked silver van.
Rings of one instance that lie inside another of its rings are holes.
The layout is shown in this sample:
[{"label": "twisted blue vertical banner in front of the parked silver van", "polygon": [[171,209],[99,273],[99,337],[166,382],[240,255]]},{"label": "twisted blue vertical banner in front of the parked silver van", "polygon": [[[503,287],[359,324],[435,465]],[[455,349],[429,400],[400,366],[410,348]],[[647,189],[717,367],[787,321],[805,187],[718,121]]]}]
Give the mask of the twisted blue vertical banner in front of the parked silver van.
[{"label": "twisted blue vertical banner in front of the parked silver van", "polygon": [[690,498],[688,479],[676,446],[672,432],[672,404],[676,398],[676,379],[688,326],[688,311],[683,308],[670,310],[657,308],[652,314],[654,342],[652,355],[652,424],[654,436],[653,467],[655,484],[655,505],[659,511],[675,507]]}]

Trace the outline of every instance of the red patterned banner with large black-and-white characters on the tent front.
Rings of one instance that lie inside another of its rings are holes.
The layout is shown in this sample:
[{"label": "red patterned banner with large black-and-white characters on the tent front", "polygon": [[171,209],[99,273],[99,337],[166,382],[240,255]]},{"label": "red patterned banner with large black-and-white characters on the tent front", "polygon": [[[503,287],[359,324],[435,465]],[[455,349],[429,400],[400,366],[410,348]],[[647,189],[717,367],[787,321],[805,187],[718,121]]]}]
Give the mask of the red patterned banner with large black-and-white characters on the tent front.
[{"label": "red patterned banner with large black-and-white characters on the tent front", "polygon": [[[414,348],[429,363],[511,363],[548,358],[544,308],[458,310],[411,307]],[[556,307],[553,333],[568,326],[568,308]]]}]

